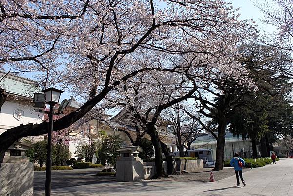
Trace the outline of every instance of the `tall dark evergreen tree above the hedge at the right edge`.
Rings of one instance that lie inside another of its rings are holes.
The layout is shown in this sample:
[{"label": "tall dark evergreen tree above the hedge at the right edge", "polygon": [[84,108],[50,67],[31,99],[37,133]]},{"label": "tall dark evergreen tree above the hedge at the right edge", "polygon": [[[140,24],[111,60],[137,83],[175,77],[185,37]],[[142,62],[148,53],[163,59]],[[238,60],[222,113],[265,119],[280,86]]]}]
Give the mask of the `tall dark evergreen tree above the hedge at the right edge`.
[{"label": "tall dark evergreen tree above the hedge at the right edge", "polygon": [[254,158],[257,142],[261,144],[262,156],[269,156],[277,136],[293,131],[293,108],[289,99],[292,83],[276,68],[287,63],[288,56],[257,44],[245,46],[243,51],[241,61],[250,70],[259,90],[243,96],[243,106],[236,109],[230,119],[230,131],[243,139],[252,139]]}]

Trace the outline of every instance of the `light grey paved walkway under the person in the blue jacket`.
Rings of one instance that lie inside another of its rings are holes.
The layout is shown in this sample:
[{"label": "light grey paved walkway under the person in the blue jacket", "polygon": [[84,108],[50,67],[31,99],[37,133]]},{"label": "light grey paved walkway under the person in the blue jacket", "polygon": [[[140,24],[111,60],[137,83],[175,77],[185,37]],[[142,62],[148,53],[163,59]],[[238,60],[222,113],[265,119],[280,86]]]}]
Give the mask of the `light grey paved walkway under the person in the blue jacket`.
[{"label": "light grey paved walkway under the person in the blue jacket", "polygon": [[[293,196],[293,159],[255,168],[243,175],[247,185],[237,187],[231,176],[206,182],[105,182],[52,190],[52,196]],[[217,176],[215,176],[215,179]],[[43,196],[37,191],[34,196]]]}]

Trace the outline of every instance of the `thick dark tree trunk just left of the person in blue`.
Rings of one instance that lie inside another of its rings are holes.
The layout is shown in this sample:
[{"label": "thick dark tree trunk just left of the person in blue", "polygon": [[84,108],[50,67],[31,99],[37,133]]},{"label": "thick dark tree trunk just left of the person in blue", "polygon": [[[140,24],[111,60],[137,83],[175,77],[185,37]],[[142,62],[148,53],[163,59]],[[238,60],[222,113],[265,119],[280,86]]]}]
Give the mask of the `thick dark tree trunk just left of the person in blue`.
[{"label": "thick dark tree trunk just left of the person in blue", "polygon": [[216,163],[215,163],[215,167],[213,171],[223,170],[226,125],[227,125],[227,120],[225,118],[219,121],[217,149],[216,149]]}]

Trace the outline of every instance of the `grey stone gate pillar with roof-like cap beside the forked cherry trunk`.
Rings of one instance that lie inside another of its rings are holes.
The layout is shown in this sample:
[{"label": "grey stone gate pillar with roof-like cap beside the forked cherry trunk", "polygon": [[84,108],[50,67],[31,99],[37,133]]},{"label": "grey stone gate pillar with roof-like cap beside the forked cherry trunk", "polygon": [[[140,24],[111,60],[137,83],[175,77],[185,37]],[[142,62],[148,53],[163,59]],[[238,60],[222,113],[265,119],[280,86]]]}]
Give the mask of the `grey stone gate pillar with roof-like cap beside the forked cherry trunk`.
[{"label": "grey stone gate pillar with roof-like cap beside the forked cherry trunk", "polygon": [[138,146],[124,147],[117,152],[121,156],[116,162],[116,180],[117,181],[138,181],[144,179],[144,162],[138,157]]}]

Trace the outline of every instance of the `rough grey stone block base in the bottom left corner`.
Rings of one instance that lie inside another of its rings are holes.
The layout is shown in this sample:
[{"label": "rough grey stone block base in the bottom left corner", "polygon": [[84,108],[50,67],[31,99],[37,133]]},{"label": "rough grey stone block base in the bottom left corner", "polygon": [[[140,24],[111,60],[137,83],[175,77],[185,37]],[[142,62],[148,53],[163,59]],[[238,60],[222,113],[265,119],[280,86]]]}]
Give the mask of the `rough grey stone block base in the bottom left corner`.
[{"label": "rough grey stone block base in the bottom left corner", "polygon": [[0,196],[33,196],[33,163],[0,163]]}]

